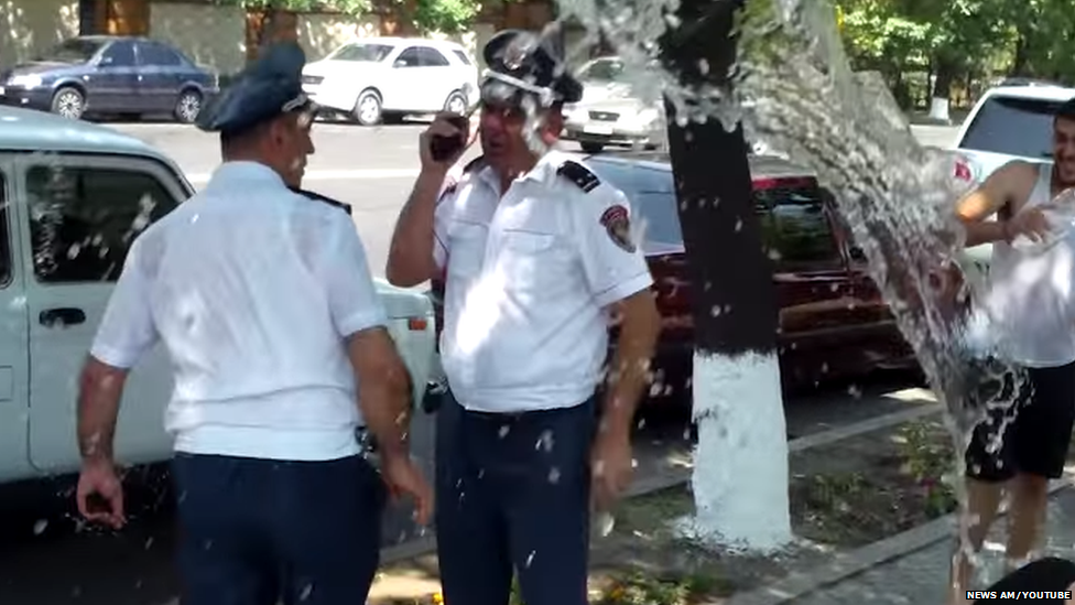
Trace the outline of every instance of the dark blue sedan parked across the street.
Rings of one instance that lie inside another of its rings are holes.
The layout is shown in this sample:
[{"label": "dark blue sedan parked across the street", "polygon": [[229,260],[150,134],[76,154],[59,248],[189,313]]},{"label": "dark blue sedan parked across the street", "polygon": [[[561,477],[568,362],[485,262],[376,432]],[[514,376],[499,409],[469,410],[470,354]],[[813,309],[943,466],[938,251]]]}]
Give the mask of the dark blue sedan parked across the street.
[{"label": "dark blue sedan parked across the street", "polygon": [[219,90],[216,74],[144,37],[73,37],[0,73],[0,102],[82,118],[170,114],[193,122]]}]

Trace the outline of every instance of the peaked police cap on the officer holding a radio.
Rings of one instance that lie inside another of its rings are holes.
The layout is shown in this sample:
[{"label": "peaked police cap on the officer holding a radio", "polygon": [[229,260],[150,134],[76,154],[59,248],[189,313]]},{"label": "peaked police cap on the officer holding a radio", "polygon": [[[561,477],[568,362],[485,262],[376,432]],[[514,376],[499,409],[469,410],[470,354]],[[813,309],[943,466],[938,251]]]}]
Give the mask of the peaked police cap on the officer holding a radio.
[{"label": "peaked police cap on the officer holding a radio", "polygon": [[549,107],[583,98],[583,85],[547,41],[533,32],[499,32],[486,43],[482,56],[489,66],[481,83],[484,101],[518,105],[521,95],[530,94]]}]

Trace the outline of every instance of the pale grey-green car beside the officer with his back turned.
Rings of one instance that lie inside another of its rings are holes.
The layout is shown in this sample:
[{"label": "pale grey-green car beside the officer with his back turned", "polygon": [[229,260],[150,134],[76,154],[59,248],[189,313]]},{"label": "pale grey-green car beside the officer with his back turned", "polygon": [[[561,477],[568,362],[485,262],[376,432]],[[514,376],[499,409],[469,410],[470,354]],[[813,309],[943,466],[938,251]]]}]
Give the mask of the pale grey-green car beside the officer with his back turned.
[{"label": "pale grey-green car beside the officer with his back turned", "polygon": [[[79,468],[77,376],[129,242],[194,190],[175,163],[112,129],[0,108],[0,484]],[[378,280],[415,403],[434,350],[428,299]],[[172,372],[154,348],[131,372],[116,434],[126,464],[172,453]]]}]

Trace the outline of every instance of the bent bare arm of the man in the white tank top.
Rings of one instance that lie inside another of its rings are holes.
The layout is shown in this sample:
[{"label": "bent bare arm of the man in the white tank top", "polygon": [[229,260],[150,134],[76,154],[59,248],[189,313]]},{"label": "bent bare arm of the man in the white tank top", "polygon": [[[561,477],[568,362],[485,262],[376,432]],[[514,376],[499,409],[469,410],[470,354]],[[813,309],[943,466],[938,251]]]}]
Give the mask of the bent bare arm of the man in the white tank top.
[{"label": "bent bare arm of the man in the white tank top", "polygon": [[[1027,203],[1036,169],[1025,162],[1010,162],[989,175],[975,191],[959,201],[956,216],[967,229],[967,247],[991,241],[1010,240],[1009,219]],[[1006,216],[991,222],[986,218],[1000,213]]]}]

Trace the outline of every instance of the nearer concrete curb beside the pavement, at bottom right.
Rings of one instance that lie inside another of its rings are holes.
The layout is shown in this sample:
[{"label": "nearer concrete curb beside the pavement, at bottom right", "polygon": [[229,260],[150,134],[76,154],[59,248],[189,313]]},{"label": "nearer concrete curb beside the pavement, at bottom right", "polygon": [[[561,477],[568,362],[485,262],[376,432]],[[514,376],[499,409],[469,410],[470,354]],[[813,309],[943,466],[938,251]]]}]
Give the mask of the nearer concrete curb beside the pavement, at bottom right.
[{"label": "nearer concrete curb beside the pavement, at bottom right", "polygon": [[[1057,491],[1073,486],[1075,486],[1075,482],[1071,478],[1053,480],[1049,486],[1049,495],[1053,496]],[[1001,512],[999,516],[1003,517],[1005,515],[1007,512]],[[732,595],[720,603],[705,603],[703,605],[781,605],[793,602],[882,563],[902,559],[915,551],[951,539],[955,520],[956,515],[949,512],[903,533],[897,533],[854,551],[837,554],[833,561],[814,569],[792,572],[786,577],[768,586]],[[945,570],[944,573],[947,571]]]}]

